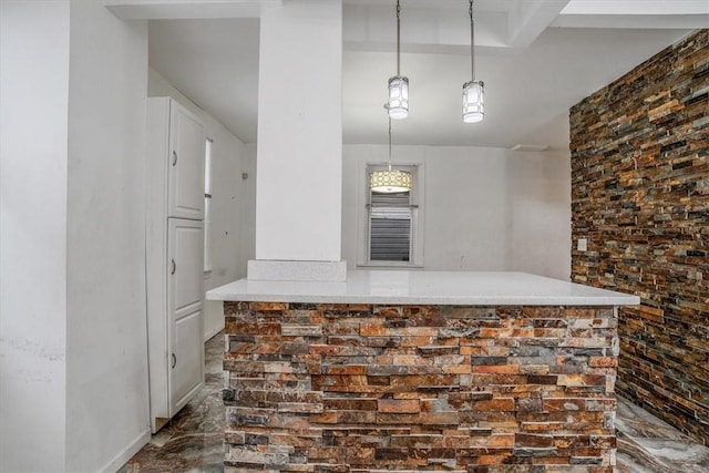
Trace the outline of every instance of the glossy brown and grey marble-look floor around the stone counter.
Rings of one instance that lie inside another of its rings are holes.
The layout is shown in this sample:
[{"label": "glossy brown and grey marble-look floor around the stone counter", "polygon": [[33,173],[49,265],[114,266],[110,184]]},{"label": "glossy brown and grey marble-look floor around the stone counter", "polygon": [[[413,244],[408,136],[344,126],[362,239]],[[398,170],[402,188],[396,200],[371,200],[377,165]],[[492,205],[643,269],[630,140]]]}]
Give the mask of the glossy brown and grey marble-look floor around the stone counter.
[{"label": "glossy brown and grey marble-look floor around the stone counter", "polygon": [[[206,343],[205,387],[119,473],[224,471],[224,335]],[[709,473],[709,448],[618,398],[617,473]]]}]

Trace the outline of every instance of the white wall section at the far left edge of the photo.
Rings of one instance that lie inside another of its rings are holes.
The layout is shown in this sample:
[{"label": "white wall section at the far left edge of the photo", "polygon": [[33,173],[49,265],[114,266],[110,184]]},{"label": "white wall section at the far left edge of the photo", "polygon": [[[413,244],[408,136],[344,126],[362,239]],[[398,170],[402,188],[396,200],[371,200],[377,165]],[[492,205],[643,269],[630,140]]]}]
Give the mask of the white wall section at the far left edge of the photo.
[{"label": "white wall section at the far left edge of the photo", "polygon": [[0,2],[0,471],[64,465],[69,1]]}]

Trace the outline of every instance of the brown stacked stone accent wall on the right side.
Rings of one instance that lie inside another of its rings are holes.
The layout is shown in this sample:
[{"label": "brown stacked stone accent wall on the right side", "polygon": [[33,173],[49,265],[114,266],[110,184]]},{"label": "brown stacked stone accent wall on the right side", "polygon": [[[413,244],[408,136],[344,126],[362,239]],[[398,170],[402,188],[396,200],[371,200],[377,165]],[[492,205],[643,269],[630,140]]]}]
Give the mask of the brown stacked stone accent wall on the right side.
[{"label": "brown stacked stone accent wall on the right side", "polygon": [[619,315],[623,395],[709,444],[709,30],[571,110],[573,280]]}]

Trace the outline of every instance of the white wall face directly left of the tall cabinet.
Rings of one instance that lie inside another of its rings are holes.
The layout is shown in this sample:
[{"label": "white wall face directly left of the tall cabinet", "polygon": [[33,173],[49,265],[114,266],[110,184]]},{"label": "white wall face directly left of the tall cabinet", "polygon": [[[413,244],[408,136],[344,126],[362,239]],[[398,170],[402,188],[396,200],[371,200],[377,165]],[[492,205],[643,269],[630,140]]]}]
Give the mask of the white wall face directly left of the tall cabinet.
[{"label": "white wall face directly left of the tall cabinet", "polygon": [[66,471],[114,471],[148,439],[147,23],[72,0]]}]

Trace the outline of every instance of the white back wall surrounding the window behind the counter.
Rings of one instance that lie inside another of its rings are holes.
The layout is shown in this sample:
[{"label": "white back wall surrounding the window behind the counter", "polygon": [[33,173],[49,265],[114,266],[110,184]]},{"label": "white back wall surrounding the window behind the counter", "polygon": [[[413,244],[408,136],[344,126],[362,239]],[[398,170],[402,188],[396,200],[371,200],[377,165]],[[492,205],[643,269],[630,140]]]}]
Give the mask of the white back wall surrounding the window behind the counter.
[{"label": "white back wall surrounding the window behind the counter", "polygon": [[[568,153],[394,146],[394,163],[425,168],[425,269],[521,270],[568,280]],[[381,163],[387,146],[343,148],[342,256],[357,261],[358,163]]]}]

